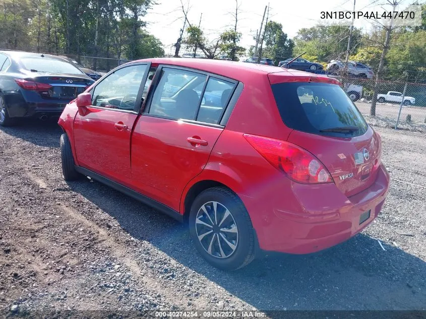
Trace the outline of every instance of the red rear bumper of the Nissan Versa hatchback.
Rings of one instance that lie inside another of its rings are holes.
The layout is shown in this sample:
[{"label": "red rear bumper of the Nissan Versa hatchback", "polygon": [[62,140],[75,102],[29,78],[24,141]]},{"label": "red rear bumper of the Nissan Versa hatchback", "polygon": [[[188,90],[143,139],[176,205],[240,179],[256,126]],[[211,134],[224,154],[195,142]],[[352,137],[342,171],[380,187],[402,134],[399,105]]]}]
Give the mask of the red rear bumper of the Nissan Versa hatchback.
[{"label": "red rear bumper of the Nissan Versa hatchback", "polygon": [[[275,204],[269,207],[273,213],[267,213],[260,223],[254,223],[259,246],[264,250],[301,254],[341,243],[362,231],[379,215],[388,189],[389,174],[382,165],[376,181],[349,198],[334,183],[318,186],[294,183],[292,193],[297,204]],[[281,201],[285,200],[281,190]],[[303,209],[297,211],[294,209],[297,207]],[[360,216],[368,211],[370,217],[360,223]]]}]

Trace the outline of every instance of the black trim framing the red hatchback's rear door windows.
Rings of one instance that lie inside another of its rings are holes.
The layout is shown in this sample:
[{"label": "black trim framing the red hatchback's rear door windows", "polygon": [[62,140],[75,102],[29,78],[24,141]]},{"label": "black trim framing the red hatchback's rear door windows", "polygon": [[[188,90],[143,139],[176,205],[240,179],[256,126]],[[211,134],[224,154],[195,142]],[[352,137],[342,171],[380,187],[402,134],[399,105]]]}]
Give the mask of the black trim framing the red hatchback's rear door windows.
[{"label": "black trim framing the red hatchback's rear door windows", "polygon": [[[201,122],[201,121],[191,120],[191,119],[185,119],[185,118],[174,118],[174,117],[169,117],[169,116],[164,116],[164,115],[150,114],[149,111],[151,109],[152,98],[153,98],[155,89],[157,88],[158,83],[161,80],[161,73],[162,73],[163,69],[176,69],[176,70],[188,71],[188,72],[198,73],[198,74],[207,76],[206,82],[205,82],[204,87],[203,87],[203,91],[201,92],[201,95],[200,95],[201,98],[200,98],[199,105],[198,105],[196,119],[198,117],[198,112],[200,110],[200,105],[201,105],[201,103],[203,101],[204,91],[206,89],[208,80],[210,78],[215,78],[217,80],[222,80],[222,81],[233,83],[234,86],[231,89],[231,94],[229,95],[229,97],[228,97],[228,99],[227,99],[227,101],[225,103],[225,106],[222,109],[222,113],[219,116],[219,119],[217,121],[218,124],[206,123],[206,122]],[[237,90],[238,87],[240,87],[239,90]],[[239,82],[239,81],[237,81],[235,79],[232,79],[232,78],[227,78],[227,77],[218,75],[218,74],[210,73],[210,72],[203,71],[203,70],[193,69],[193,68],[187,68],[187,67],[181,67],[181,66],[175,66],[175,65],[167,65],[167,64],[160,64],[157,67],[157,71],[155,72],[154,78],[153,78],[153,80],[151,82],[151,86],[148,89],[148,93],[147,93],[147,96],[145,98],[145,101],[142,103],[140,114],[142,116],[164,118],[164,119],[175,120],[175,121],[183,121],[183,122],[188,122],[188,123],[193,123],[193,124],[199,124],[199,125],[204,125],[204,126],[212,126],[212,127],[221,127],[221,128],[223,128],[223,127],[226,126],[226,123],[227,123],[227,121],[229,119],[229,116],[230,116],[233,108],[235,107],[236,101],[238,100],[238,98],[239,98],[239,96],[240,96],[240,94],[242,92],[242,88],[243,87],[244,86],[242,85],[241,82]],[[236,96],[236,99],[234,99],[234,97],[235,97],[234,93],[237,93],[236,91],[238,91],[238,94]],[[227,113],[227,111],[228,111],[228,113]]]}]

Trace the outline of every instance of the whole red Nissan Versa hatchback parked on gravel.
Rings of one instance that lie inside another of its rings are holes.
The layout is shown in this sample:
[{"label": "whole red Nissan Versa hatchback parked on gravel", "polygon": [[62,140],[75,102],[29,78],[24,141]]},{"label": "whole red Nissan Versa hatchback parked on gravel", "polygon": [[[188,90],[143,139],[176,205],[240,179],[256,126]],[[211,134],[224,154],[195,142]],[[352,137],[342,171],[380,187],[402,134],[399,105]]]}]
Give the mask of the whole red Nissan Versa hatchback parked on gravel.
[{"label": "whole red Nissan Versa hatchback parked on gravel", "polygon": [[258,248],[318,251],[359,233],[389,188],[381,139],[339,82],[277,67],[153,58],[120,66],[59,119],[63,175],[189,224],[220,269]]}]

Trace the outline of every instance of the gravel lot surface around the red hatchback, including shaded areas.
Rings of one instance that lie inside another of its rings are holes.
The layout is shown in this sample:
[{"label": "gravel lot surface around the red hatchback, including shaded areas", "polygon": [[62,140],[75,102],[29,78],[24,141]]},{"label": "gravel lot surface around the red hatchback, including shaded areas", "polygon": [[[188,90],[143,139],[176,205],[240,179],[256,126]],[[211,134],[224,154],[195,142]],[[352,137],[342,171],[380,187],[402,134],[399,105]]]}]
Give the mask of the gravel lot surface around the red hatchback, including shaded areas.
[{"label": "gravel lot surface around the red hatchback, including shaded areas", "polygon": [[374,223],[226,273],[183,225],[96,181],[63,181],[54,122],[1,129],[0,309],[425,309],[426,136],[376,130],[392,187]]}]

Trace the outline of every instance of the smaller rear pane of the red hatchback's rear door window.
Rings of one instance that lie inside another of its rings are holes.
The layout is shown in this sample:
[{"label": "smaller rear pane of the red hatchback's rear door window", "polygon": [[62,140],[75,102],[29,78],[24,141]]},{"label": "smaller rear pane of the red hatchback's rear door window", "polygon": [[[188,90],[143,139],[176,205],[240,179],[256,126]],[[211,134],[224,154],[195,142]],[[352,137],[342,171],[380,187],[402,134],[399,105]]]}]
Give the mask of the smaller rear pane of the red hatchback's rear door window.
[{"label": "smaller rear pane of the red hatchback's rear door window", "polygon": [[216,78],[209,78],[204,91],[197,121],[217,124],[223,109],[228,104],[234,84]]}]

